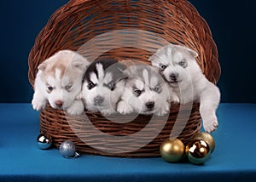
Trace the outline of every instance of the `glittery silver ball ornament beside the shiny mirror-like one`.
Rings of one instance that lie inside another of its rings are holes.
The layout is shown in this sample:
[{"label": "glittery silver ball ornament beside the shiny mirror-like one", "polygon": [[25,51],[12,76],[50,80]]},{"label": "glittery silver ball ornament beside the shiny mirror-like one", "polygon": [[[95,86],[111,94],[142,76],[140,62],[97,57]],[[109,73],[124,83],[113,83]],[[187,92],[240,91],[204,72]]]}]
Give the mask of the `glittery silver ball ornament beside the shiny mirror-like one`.
[{"label": "glittery silver ball ornament beside the shiny mirror-like one", "polygon": [[76,145],[72,141],[64,141],[60,145],[61,156],[66,158],[76,158],[79,157],[79,153],[76,152]]}]

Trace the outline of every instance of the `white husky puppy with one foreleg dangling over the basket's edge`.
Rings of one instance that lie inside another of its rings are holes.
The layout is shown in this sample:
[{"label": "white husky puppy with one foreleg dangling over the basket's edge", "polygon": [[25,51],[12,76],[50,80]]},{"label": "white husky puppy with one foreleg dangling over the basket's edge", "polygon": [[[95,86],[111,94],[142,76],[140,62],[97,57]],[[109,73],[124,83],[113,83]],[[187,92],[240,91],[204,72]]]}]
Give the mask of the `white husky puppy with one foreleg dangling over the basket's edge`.
[{"label": "white husky puppy with one foreleg dangling over the basket's edge", "polygon": [[181,104],[198,101],[205,131],[218,127],[216,109],[220,100],[218,88],[207,80],[195,58],[198,54],[189,48],[169,44],[157,50],[149,60],[169,82]]}]

